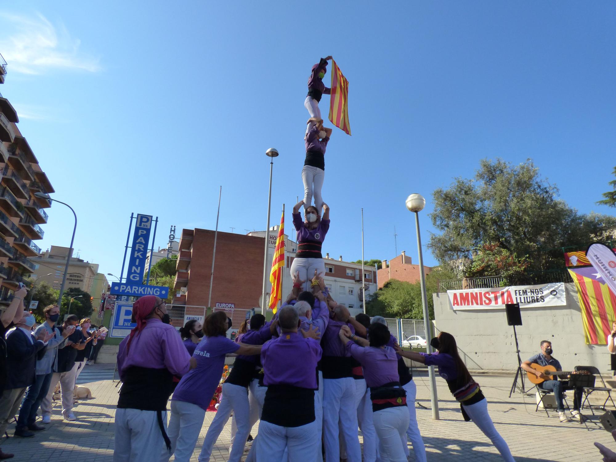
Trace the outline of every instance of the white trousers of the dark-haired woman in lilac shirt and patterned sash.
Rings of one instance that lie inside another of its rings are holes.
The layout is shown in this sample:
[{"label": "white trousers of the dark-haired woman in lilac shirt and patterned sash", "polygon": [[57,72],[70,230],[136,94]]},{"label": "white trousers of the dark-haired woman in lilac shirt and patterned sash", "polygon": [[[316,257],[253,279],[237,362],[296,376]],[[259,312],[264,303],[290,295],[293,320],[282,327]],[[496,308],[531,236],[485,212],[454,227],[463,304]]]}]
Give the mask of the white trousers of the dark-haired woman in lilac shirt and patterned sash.
[{"label": "white trousers of the dark-haired woman in lilac shirt and patterned sash", "polygon": [[381,458],[389,462],[407,462],[402,444],[408,428],[408,408],[390,407],[372,413],[379,437]]}]

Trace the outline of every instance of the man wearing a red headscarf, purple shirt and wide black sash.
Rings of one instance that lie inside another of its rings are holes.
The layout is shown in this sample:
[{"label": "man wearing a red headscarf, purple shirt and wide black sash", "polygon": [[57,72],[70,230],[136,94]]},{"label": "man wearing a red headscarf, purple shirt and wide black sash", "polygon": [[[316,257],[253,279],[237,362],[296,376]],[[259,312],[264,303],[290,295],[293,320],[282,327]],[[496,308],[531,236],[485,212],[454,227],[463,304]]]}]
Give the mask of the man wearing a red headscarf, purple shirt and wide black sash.
[{"label": "man wearing a red headscarf, purple shirt and wide black sash", "polygon": [[[120,343],[122,387],[115,415],[113,462],[158,460],[171,444],[166,433],[167,400],[173,376],[195,367],[164,301],[153,295],[132,306],[137,326]],[[162,437],[161,437],[162,434]]]}]

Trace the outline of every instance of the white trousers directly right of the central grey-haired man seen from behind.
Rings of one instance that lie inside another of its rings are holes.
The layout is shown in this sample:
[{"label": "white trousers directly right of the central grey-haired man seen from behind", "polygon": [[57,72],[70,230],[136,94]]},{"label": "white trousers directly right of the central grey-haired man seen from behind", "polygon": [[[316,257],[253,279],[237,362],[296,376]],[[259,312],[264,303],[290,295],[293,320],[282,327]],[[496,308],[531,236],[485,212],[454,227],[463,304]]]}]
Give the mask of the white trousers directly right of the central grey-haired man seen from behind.
[{"label": "white trousers directly right of the central grey-haired man seen from behind", "polygon": [[357,437],[357,388],[355,379],[323,379],[323,440],[325,460],[338,461],[338,422],[341,421],[342,436],[346,444],[347,460],[361,462],[362,450]]}]

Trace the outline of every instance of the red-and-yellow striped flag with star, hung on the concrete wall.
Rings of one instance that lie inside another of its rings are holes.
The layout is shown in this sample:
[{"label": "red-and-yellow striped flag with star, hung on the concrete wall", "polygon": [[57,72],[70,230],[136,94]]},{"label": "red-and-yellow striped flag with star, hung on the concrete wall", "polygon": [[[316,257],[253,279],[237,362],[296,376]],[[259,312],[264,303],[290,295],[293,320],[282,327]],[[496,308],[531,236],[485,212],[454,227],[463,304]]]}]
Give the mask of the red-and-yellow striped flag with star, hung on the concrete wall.
[{"label": "red-and-yellow striped flag with star, hung on the concrete wall", "polygon": [[569,268],[577,289],[587,345],[606,345],[616,320],[616,294],[592,266]]}]

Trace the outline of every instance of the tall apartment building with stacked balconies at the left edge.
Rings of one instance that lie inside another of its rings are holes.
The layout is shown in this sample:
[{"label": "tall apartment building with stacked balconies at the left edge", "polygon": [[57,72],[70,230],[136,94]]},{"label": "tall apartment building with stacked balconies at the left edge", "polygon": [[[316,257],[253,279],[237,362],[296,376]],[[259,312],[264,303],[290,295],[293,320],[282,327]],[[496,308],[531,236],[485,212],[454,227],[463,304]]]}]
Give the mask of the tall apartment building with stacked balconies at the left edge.
[{"label": "tall apartment building with stacked balconies at the left edge", "polygon": [[[0,84],[6,77],[6,62],[0,55]],[[41,249],[39,225],[47,222],[51,201],[34,193],[52,193],[28,141],[17,127],[17,111],[0,94],[0,304],[8,304],[18,283],[34,272],[31,257]]]}]

